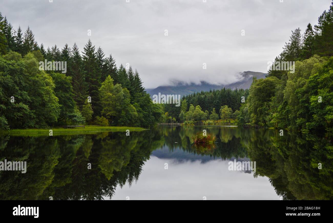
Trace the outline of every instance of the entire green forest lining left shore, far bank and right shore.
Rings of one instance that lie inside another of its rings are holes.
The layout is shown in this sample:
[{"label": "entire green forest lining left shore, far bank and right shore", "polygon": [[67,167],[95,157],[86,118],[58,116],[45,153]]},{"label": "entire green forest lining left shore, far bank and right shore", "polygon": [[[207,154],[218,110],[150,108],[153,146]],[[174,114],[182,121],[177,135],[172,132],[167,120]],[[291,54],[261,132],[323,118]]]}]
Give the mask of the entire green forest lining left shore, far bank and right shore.
[{"label": "entire green forest lining left shore, far bank and right shore", "polygon": [[[250,89],[183,96],[180,106],[154,104],[137,70],[117,67],[89,39],[47,47],[30,27],[14,30],[0,13],[0,129],[70,124],[150,127],[234,119],[238,125],[333,132],[333,2],[304,33],[292,31],[264,79]],[[39,61],[67,61],[67,72],[39,69]],[[295,61],[292,72],[274,69]]]}]

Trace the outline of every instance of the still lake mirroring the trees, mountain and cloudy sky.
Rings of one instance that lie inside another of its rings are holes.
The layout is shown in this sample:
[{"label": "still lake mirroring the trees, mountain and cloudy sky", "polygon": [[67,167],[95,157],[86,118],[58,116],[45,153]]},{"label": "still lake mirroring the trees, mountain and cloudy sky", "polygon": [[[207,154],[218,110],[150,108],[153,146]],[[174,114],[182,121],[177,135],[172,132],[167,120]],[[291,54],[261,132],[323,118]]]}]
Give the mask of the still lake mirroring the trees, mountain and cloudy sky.
[{"label": "still lake mirroring the trees, mountain and cloudy sky", "polygon": [[[194,146],[203,130],[216,143]],[[130,136],[1,136],[5,159],[27,168],[0,171],[1,200],[333,199],[331,142],[287,131],[161,126]],[[255,170],[231,170],[235,160],[255,162]]]}]

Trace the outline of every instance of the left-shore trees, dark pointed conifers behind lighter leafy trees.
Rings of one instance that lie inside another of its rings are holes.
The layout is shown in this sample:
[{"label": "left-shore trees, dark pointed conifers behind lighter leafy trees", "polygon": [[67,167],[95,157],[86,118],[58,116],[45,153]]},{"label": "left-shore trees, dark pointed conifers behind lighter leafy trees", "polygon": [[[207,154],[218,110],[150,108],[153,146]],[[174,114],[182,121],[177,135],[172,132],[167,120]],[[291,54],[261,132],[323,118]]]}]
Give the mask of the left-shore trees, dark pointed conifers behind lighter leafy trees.
[{"label": "left-shore trees, dark pointed conifers behind lighter leafy trees", "polygon": [[[41,70],[40,61],[66,61],[67,72]],[[149,127],[162,118],[139,72],[117,67],[89,39],[80,52],[38,44],[30,27],[22,33],[0,12],[0,129],[68,124]]]}]

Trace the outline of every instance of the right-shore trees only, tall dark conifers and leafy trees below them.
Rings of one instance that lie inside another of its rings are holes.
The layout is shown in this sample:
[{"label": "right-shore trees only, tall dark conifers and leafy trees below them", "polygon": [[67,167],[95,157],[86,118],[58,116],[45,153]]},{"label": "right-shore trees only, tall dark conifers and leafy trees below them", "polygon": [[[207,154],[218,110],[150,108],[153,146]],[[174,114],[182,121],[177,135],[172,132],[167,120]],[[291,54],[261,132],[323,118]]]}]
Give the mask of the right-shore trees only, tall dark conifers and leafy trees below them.
[{"label": "right-shore trees only, tall dark conifers and leafy trees below them", "polygon": [[314,29],[292,31],[276,61],[296,61],[294,72],[271,67],[265,79],[254,78],[239,123],[333,133],[333,2]]}]

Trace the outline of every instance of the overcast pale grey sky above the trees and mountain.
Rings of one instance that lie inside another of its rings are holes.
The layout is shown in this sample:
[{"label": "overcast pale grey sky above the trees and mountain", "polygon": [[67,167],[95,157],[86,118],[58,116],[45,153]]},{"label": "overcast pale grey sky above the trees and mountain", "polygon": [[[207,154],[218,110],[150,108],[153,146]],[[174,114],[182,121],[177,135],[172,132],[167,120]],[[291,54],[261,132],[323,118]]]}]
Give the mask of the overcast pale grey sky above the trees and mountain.
[{"label": "overcast pale grey sky above the trees and mountain", "polygon": [[91,38],[117,66],[129,63],[144,86],[154,88],[174,80],[226,84],[242,71],[267,72],[267,61],[282,51],[291,30],[316,24],[331,2],[0,0],[0,11],[15,29],[29,25],[46,48],[76,42],[83,50]]}]

